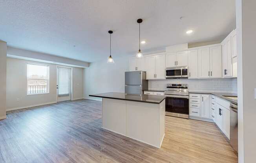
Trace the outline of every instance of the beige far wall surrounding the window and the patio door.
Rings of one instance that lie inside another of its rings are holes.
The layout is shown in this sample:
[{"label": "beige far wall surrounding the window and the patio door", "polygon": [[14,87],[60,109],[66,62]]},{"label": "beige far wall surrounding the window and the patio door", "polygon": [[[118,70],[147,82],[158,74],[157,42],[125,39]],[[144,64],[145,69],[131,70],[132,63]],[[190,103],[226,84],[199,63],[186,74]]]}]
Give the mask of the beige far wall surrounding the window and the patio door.
[{"label": "beige far wall surrounding the window and the patio door", "polygon": [[[7,110],[20,109],[33,105],[56,102],[56,75],[54,64],[49,65],[49,94],[27,95],[27,63],[38,63],[15,58],[7,58]],[[42,64],[42,63],[41,63]],[[83,68],[73,68],[73,98],[83,98]],[[17,101],[19,98],[19,101]]]}]

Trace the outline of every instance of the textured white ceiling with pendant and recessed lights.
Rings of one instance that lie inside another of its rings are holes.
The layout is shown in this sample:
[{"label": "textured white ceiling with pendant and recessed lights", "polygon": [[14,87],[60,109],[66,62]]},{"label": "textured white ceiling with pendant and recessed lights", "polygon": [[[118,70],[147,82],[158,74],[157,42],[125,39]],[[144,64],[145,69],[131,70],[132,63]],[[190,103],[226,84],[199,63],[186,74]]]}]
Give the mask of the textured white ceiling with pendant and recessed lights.
[{"label": "textured white ceiling with pendant and recessed lights", "polygon": [[[180,20],[179,17],[183,16]],[[219,40],[235,28],[234,0],[0,0],[8,46],[94,62],[141,50]],[[185,32],[193,29],[194,33]],[[73,47],[75,45],[75,47]]]}]

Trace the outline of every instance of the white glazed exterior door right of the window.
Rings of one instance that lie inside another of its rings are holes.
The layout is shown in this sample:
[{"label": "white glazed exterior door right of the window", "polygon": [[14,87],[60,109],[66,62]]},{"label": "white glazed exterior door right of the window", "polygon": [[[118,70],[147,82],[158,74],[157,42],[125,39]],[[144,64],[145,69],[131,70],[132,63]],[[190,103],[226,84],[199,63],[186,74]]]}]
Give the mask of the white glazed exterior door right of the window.
[{"label": "white glazed exterior door right of the window", "polygon": [[71,100],[71,69],[57,67],[57,101]]}]

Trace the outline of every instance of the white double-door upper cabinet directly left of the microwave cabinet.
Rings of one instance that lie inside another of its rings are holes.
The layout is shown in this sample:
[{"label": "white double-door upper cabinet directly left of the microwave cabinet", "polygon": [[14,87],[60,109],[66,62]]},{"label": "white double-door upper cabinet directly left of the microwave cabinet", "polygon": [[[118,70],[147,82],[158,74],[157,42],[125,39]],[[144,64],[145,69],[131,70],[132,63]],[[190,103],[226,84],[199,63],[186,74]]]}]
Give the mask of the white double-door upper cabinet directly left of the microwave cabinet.
[{"label": "white double-door upper cabinet directly left of the microwave cabinet", "polygon": [[165,55],[147,56],[144,58],[146,79],[165,79]]}]

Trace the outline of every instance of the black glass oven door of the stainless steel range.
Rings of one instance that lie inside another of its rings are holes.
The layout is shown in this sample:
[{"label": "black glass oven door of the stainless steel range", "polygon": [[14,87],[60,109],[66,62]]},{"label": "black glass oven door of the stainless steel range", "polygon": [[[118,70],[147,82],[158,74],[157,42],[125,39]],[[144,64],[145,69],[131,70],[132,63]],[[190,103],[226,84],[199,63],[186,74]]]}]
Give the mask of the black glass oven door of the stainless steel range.
[{"label": "black glass oven door of the stainless steel range", "polygon": [[189,100],[188,96],[165,94],[166,115],[188,118]]}]

